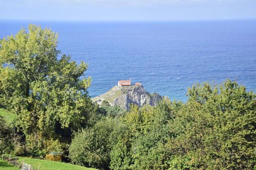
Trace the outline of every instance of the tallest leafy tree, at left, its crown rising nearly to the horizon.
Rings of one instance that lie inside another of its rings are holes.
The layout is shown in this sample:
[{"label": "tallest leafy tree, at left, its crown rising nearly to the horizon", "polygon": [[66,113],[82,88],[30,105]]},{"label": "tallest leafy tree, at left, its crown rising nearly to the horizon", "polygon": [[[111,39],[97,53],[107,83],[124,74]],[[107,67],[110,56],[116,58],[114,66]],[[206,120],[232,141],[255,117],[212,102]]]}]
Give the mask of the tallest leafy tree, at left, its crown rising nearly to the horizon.
[{"label": "tallest leafy tree, at left, its crown rising nearly to the horizon", "polygon": [[17,114],[31,150],[84,127],[92,106],[90,77],[80,78],[87,64],[66,55],[58,60],[57,39],[51,29],[30,24],[28,32],[0,40],[0,102]]}]

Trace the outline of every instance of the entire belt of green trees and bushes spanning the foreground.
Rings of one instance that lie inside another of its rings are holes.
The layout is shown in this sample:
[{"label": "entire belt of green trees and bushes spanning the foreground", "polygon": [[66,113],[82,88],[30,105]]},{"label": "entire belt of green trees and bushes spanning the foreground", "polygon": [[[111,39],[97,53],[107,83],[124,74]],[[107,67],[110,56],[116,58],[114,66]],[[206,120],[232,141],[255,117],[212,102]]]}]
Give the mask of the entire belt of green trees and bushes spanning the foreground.
[{"label": "entire belt of green trees and bushes spanning the foreground", "polygon": [[[0,40],[0,150],[105,170],[244,170],[256,165],[256,94],[227,79],[197,83],[188,101],[126,111],[92,103],[87,64],[56,49],[58,34],[29,25]],[[65,137],[72,137],[71,144]],[[68,144],[68,145],[67,145]]]}]

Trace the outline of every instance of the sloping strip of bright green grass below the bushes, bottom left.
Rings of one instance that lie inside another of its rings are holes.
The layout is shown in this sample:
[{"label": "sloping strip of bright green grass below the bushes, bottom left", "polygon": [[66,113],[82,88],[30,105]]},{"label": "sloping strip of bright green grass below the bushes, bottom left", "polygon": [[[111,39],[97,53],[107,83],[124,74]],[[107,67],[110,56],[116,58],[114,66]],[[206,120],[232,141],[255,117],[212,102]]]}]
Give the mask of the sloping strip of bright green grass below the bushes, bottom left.
[{"label": "sloping strip of bright green grass below the bushes, bottom left", "polygon": [[94,168],[86,168],[84,166],[73,165],[70,163],[55,162],[28,157],[18,157],[18,162],[22,163],[22,160],[25,163],[31,163],[33,170],[37,170],[39,166],[40,170],[97,170]]}]

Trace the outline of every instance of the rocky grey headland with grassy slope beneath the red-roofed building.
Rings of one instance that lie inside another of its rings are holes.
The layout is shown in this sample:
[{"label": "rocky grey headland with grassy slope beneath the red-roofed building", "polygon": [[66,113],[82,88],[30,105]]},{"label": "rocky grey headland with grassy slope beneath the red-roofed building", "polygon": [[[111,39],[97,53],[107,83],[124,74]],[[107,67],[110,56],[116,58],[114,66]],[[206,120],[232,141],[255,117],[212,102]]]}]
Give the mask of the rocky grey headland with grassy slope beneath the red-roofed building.
[{"label": "rocky grey headland with grassy slope beneath the red-roofed building", "polygon": [[158,93],[146,92],[143,86],[114,86],[107,93],[92,98],[99,105],[103,100],[107,100],[112,106],[119,105],[126,109],[129,109],[129,104],[156,106],[162,99]]}]

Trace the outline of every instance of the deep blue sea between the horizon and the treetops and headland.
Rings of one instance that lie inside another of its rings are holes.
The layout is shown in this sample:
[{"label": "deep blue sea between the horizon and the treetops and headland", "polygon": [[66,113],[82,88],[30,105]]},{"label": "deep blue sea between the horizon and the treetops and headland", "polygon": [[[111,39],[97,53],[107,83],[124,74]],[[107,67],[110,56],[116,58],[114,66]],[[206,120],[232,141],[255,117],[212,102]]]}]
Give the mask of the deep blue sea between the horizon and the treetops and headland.
[{"label": "deep blue sea between the horizon and the treetops and headland", "polygon": [[[0,21],[0,38],[29,23]],[[89,63],[92,97],[129,78],[171,100],[186,101],[196,82],[227,77],[256,91],[256,20],[31,23],[51,27],[62,53]]]}]

